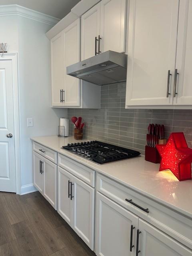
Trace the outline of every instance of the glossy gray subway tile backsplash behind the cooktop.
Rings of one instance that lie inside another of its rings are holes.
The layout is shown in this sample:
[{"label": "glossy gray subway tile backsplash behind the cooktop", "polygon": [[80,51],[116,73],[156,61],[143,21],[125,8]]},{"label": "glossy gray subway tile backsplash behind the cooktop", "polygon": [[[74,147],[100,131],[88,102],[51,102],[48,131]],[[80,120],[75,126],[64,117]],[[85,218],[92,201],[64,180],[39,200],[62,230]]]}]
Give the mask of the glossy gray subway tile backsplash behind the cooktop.
[{"label": "glossy gray subway tile backsplash behind the cooktop", "polygon": [[[192,147],[192,110],[125,109],[126,84],[101,86],[101,109],[68,109],[68,118],[82,116],[84,138],[132,148],[144,154],[149,123],[164,124],[165,136],[184,132]],[[70,122],[70,134],[74,125]]]}]

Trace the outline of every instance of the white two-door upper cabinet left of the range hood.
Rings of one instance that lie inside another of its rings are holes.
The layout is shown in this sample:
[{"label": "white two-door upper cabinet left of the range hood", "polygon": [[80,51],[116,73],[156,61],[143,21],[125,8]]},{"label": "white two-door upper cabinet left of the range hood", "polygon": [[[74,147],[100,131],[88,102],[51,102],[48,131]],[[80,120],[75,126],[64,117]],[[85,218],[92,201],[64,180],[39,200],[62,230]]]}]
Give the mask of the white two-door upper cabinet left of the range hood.
[{"label": "white two-door upper cabinet left of the range hood", "polygon": [[80,19],[51,40],[52,106],[80,106],[80,80],[66,67],[80,61]]}]

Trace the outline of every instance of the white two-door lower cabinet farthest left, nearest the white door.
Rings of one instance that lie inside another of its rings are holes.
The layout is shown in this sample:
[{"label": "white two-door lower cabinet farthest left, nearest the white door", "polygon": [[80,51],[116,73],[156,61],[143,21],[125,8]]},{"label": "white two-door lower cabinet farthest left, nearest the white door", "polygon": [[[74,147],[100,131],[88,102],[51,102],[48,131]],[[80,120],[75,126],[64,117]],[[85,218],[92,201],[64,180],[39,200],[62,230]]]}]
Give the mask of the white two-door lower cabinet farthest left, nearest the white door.
[{"label": "white two-door lower cabinet farthest left, nearest the white door", "polygon": [[57,165],[33,152],[34,186],[57,209]]}]

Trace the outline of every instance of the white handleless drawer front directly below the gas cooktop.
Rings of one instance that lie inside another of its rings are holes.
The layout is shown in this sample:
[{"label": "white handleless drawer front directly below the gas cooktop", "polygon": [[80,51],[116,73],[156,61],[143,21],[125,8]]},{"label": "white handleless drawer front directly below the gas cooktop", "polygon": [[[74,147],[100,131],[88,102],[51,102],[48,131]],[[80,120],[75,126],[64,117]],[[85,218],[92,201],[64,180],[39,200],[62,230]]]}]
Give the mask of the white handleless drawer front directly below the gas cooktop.
[{"label": "white handleless drawer front directly below the gas cooktop", "polygon": [[67,156],[58,154],[58,166],[74,174],[90,186],[95,187],[95,171],[84,164],[80,164]]}]

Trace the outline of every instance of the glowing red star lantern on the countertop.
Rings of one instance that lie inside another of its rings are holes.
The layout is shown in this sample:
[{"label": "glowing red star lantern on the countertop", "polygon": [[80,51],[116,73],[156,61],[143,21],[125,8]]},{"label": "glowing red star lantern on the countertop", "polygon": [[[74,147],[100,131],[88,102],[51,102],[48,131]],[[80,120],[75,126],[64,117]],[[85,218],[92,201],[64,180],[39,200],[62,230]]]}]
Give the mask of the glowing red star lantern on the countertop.
[{"label": "glowing red star lantern on the countertop", "polygon": [[178,180],[191,180],[192,149],[183,132],[173,132],[166,145],[156,145],[161,156],[160,171],[171,170]]}]

